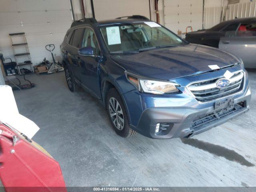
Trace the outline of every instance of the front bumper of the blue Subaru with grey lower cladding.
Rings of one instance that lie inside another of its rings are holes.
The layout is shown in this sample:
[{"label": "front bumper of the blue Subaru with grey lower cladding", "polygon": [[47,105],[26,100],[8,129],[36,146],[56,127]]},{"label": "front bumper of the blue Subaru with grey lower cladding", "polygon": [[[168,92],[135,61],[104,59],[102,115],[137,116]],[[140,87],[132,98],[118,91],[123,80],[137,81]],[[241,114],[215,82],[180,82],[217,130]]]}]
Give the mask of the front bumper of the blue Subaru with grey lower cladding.
[{"label": "front bumper of the blue Subaru with grey lower cladding", "polygon": [[[251,99],[250,86],[246,89],[244,94],[239,98],[234,99],[234,106],[236,110],[229,112],[227,115],[221,118],[216,118],[209,122],[206,122],[202,126],[193,127],[194,120],[207,114],[215,112],[214,106],[196,109],[192,107],[156,107],[147,108],[140,116],[140,120],[137,126],[132,126],[134,130],[140,134],[149,138],[156,139],[168,139],[168,138],[188,138],[192,135],[202,133],[213,127],[216,127],[228,120],[239,116],[240,114],[249,110],[249,104]],[[244,102],[242,106],[238,103]],[[164,135],[158,135],[155,133],[157,123],[167,123],[170,125],[170,130]]]}]

